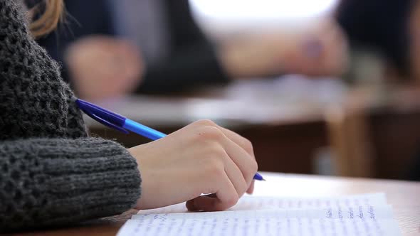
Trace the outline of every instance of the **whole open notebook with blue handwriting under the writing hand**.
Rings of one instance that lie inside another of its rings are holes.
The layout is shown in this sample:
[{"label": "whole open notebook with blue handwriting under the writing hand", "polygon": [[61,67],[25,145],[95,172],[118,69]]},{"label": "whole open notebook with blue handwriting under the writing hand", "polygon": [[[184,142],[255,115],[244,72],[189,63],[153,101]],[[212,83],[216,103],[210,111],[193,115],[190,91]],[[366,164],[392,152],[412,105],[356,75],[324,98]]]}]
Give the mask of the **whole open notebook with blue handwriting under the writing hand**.
[{"label": "whole open notebook with blue handwriting under the writing hand", "polygon": [[384,193],[338,198],[243,197],[223,212],[190,213],[185,203],[141,210],[126,235],[401,235]]}]

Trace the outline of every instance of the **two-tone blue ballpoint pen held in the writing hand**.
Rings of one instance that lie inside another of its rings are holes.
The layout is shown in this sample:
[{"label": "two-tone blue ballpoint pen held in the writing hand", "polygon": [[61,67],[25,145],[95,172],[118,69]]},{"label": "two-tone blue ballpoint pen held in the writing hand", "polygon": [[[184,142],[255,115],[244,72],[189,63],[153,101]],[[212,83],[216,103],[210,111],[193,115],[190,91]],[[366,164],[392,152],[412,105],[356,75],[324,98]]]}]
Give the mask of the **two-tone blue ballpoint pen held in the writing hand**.
[{"label": "two-tone blue ballpoint pen held in the writing hand", "polygon": [[[116,129],[122,133],[128,134],[129,132],[127,132],[127,130],[130,130],[131,132],[135,132],[136,134],[140,134],[141,136],[145,136],[152,140],[161,139],[164,136],[167,136],[162,132],[158,132],[155,129],[139,124],[131,119],[123,117],[120,114],[116,114],[90,102],[78,99],[76,100],[76,104],[92,119],[95,119],[97,122],[100,122],[112,129]],[[264,181],[263,176],[259,173],[256,173],[255,176],[253,176],[253,179],[256,181]]]}]

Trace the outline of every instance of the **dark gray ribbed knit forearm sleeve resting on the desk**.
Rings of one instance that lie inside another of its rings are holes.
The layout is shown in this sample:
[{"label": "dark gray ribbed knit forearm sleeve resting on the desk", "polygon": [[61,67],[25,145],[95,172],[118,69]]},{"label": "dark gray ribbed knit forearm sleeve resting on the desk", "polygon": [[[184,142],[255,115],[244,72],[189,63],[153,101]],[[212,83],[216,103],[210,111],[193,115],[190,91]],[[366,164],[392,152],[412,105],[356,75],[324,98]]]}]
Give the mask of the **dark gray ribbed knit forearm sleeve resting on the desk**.
[{"label": "dark gray ribbed knit forearm sleeve resting on the desk", "polygon": [[128,151],[104,139],[0,144],[0,232],[116,215],[140,197]]}]

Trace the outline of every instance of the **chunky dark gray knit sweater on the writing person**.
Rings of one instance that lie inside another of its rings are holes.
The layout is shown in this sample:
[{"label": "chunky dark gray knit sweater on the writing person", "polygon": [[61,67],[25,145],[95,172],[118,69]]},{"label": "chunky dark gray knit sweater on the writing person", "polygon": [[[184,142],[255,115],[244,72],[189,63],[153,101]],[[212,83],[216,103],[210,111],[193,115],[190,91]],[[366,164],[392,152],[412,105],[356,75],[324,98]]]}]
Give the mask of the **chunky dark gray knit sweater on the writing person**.
[{"label": "chunky dark gray knit sweater on the writing person", "polygon": [[58,65],[0,0],[0,232],[122,213],[140,182],[124,147],[87,136]]}]

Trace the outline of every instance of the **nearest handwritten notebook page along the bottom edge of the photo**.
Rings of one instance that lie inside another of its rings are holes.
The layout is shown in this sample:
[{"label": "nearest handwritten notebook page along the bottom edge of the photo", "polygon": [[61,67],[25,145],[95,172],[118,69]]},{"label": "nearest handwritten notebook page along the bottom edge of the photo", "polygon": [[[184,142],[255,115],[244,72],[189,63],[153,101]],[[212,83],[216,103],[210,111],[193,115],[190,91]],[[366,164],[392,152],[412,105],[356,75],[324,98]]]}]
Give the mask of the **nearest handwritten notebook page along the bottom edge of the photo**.
[{"label": "nearest handwritten notebook page along the bottom edge of the photo", "polygon": [[381,235],[398,236],[390,206],[242,210],[134,215],[125,235]]}]

